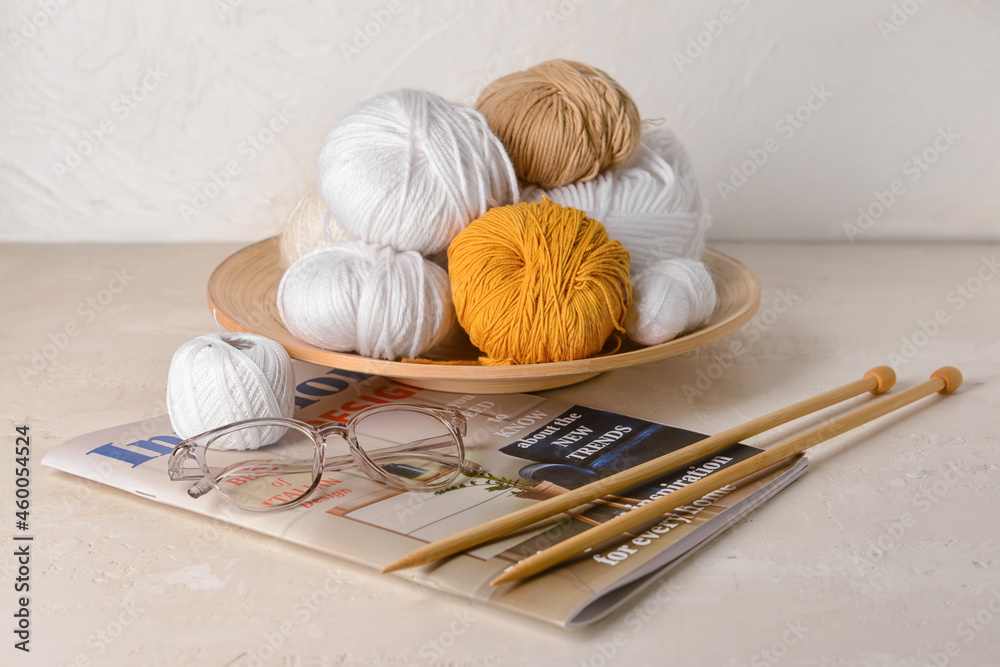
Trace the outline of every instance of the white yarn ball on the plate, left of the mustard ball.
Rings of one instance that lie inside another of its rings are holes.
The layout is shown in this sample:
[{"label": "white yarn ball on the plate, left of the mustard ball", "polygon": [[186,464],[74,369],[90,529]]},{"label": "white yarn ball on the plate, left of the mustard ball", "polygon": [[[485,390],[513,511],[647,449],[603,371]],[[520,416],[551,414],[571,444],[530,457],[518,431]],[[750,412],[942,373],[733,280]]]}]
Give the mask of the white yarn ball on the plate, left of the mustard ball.
[{"label": "white yarn ball on the plate, left of the mustard ball", "polygon": [[414,251],[343,241],[285,272],[278,313],[298,338],[379,359],[431,349],[455,320],[448,274]]}]

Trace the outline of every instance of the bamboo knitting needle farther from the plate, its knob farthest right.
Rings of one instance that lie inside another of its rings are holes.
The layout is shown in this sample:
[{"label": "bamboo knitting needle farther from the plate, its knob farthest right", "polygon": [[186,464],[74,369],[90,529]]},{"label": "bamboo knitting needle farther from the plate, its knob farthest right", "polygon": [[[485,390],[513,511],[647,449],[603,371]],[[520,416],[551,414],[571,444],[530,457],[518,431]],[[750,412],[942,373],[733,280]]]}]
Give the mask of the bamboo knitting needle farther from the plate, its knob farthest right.
[{"label": "bamboo knitting needle farther from the plate, its knob farthest right", "polygon": [[510,581],[524,579],[525,577],[547,570],[553,565],[557,565],[587,549],[596,547],[617,535],[621,535],[626,530],[652,521],[671,510],[694,502],[706,493],[711,493],[727,484],[733,484],[750,475],[766,470],[776,463],[785,461],[814,445],[825,442],[862,424],[867,424],[878,417],[889,414],[893,410],[901,408],[904,405],[909,405],[925,396],[930,396],[936,392],[950,394],[958,389],[961,384],[962,374],[957,368],[950,366],[939,368],[934,371],[931,379],[927,382],[901,391],[898,394],[886,396],[874,403],[869,403],[854,412],[835,419],[829,424],[803,433],[770,449],[766,449],[760,454],[755,454],[736,465],[723,468],[707,477],[699,479],[697,482],[693,482],[677,491],[657,498],[647,505],[637,507],[610,521],[602,523],[600,526],[590,528],[559,542],[553,547],[539,551],[533,556],[529,556],[516,565],[509,567],[499,577],[491,581],[490,585],[497,586]]}]

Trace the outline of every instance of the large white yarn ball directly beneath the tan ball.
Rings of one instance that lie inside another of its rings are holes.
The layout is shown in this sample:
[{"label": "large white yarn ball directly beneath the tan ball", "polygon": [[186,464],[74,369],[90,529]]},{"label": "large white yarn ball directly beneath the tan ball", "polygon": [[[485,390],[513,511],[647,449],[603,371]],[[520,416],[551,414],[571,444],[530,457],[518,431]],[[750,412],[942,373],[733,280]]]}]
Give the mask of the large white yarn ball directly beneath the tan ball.
[{"label": "large white yarn ball directly beneath the tan ball", "polygon": [[665,128],[645,128],[639,151],[618,169],[521,194],[524,201],[541,201],[544,195],[599,220],[632,253],[633,274],[661,259],[701,259],[705,252],[708,208],[684,146]]}]

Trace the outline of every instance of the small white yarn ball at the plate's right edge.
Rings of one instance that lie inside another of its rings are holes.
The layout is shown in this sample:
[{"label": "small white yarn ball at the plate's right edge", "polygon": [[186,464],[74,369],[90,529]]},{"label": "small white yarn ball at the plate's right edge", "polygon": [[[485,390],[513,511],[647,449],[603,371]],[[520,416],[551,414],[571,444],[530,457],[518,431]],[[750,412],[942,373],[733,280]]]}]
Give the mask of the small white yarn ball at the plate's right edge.
[{"label": "small white yarn ball at the plate's right edge", "polygon": [[656,345],[708,321],[715,310],[715,285],[705,265],[693,259],[665,259],[632,276],[632,308],[625,331],[642,345]]}]

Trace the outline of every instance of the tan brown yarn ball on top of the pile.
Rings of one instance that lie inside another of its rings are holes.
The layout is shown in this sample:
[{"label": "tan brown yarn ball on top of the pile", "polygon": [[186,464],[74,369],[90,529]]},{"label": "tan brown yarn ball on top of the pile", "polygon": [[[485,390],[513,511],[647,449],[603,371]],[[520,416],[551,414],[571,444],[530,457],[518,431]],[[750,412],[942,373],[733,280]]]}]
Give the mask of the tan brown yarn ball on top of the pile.
[{"label": "tan brown yarn ball on top of the pile", "polygon": [[601,70],[548,60],[490,83],[476,109],[500,137],[517,175],[557,188],[625,164],[641,119],[628,92]]}]

